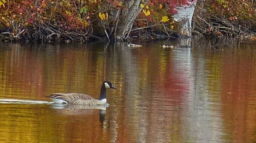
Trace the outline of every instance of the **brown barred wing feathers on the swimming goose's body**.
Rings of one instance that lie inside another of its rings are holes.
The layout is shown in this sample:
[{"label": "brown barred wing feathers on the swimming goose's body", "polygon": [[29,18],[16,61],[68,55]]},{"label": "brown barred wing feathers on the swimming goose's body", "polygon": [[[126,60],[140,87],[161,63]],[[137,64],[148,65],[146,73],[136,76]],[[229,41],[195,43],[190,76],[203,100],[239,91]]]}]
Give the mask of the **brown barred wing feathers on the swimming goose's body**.
[{"label": "brown barred wing feathers on the swimming goose's body", "polygon": [[53,93],[48,97],[54,99],[62,99],[71,104],[83,104],[83,102],[92,102],[96,100],[91,96],[82,93]]}]

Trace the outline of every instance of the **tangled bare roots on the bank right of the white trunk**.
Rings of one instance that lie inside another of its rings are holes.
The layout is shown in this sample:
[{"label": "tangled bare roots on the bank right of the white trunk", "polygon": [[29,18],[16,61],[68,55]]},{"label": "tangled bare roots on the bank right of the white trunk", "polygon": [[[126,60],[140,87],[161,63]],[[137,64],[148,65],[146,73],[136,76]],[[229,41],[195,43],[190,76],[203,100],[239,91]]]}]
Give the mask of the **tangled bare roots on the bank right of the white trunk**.
[{"label": "tangled bare roots on the bank right of the white trunk", "polygon": [[253,21],[235,20],[208,14],[204,16],[196,15],[194,17],[194,34],[204,35],[211,38],[250,38],[256,35],[252,29]]}]

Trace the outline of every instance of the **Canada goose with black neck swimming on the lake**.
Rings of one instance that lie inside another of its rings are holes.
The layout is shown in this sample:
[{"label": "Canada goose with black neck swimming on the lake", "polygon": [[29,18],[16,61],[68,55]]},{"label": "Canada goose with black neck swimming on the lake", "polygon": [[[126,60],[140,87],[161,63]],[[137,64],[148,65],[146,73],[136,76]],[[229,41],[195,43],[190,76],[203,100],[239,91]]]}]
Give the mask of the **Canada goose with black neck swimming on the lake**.
[{"label": "Canada goose with black neck swimming on the lake", "polygon": [[106,89],[108,88],[117,89],[112,83],[104,81],[100,89],[99,99],[82,93],[53,93],[46,97],[58,104],[103,105],[106,104]]}]

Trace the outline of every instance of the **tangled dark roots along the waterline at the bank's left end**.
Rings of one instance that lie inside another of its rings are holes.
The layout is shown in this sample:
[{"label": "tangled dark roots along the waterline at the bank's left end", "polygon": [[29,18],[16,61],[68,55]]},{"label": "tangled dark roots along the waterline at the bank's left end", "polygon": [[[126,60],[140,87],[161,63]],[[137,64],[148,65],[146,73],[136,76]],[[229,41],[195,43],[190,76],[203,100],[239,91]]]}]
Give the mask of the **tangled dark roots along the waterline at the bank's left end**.
[{"label": "tangled dark roots along the waterline at the bank's left end", "polygon": [[[12,26],[11,30],[6,29],[5,32],[0,32],[0,40],[2,41],[40,41],[40,42],[59,42],[59,41],[87,41],[92,35],[93,29],[89,30],[69,30],[63,29],[59,26],[45,21],[43,24],[37,26],[27,26],[20,28],[20,26]],[[94,39],[100,39],[93,36]]]}]

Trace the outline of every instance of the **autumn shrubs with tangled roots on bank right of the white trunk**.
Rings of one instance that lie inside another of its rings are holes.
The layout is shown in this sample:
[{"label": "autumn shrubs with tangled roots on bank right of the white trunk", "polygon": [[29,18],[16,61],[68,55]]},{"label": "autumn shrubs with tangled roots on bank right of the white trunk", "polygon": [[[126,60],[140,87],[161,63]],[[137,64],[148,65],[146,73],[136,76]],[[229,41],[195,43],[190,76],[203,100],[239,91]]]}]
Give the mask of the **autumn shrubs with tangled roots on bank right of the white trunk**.
[{"label": "autumn shrubs with tangled roots on bank right of the white trunk", "polygon": [[197,30],[210,37],[250,38],[256,32],[255,6],[252,0],[207,0],[194,21]]}]

